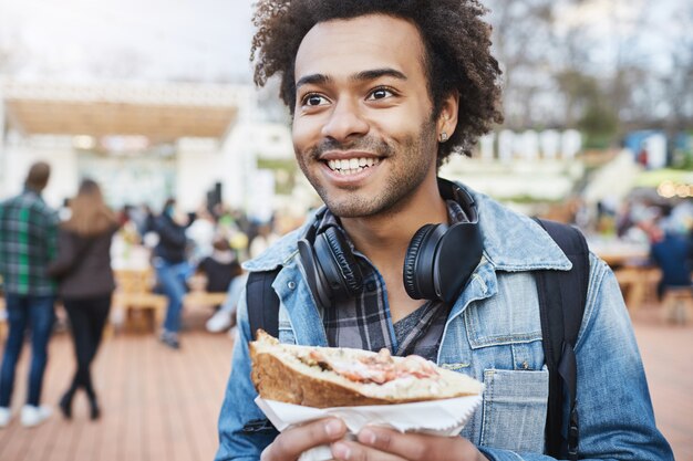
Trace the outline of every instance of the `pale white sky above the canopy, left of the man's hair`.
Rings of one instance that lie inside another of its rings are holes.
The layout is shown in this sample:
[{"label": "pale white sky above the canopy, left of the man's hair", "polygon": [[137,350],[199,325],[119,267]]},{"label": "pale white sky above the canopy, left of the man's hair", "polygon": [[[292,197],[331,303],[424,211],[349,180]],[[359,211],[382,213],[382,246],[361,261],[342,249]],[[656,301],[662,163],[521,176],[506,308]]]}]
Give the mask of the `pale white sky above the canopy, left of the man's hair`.
[{"label": "pale white sky above the canopy, left of the man's hair", "polygon": [[31,78],[249,80],[250,3],[0,0],[0,43]]}]

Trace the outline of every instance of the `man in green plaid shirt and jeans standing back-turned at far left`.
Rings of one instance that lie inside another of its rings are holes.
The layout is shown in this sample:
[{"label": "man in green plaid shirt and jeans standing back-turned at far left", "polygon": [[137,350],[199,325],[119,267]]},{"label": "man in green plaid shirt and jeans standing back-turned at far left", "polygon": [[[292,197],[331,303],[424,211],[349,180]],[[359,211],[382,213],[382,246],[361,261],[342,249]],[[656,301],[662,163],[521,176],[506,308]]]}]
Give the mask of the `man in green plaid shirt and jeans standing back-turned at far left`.
[{"label": "man in green plaid shirt and jeans standing back-turned at far left", "polygon": [[51,413],[50,408],[39,405],[54,321],[55,284],[48,277],[45,266],[55,256],[59,219],[41,198],[50,174],[48,164],[33,164],[24,190],[0,203],[0,275],[10,325],[0,369],[0,428],[10,421],[14,369],[28,327],[31,329],[31,367],[21,422],[37,426]]}]

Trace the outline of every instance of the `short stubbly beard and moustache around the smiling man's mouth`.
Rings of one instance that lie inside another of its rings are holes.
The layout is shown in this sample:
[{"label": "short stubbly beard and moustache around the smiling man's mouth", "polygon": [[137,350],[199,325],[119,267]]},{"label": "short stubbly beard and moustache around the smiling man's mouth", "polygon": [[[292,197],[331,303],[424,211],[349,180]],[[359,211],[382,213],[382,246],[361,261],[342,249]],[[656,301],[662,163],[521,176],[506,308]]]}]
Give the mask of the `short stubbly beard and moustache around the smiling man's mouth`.
[{"label": "short stubbly beard and moustache around the smiling man's mouth", "polygon": [[[376,193],[365,193],[360,186],[342,187],[334,191],[311,172],[309,164],[320,161],[328,150],[361,150],[381,158],[379,168],[386,168],[386,178]],[[324,139],[304,154],[297,153],[299,166],[330,211],[340,218],[364,218],[394,214],[403,209],[423,184],[437,155],[435,122],[426,119],[417,133],[400,143],[365,136],[350,143]]]}]

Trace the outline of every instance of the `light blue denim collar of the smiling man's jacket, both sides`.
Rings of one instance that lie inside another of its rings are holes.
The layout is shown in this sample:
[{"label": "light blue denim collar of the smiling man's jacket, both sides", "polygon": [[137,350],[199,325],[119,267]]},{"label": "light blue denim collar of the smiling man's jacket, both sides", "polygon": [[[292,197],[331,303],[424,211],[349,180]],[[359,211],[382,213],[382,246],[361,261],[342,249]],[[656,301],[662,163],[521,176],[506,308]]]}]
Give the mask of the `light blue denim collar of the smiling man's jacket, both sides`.
[{"label": "light blue denim collar of the smiling man's jacket, both sides", "polygon": [[[467,190],[476,202],[484,241],[484,256],[497,271],[567,271],[572,264],[558,244],[532,219],[519,214],[492,198]],[[317,210],[319,212],[320,210]],[[297,230],[283,235],[268,251],[244,263],[248,271],[270,271],[292,265],[298,254],[297,241],[313,223],[313,212]]]}]

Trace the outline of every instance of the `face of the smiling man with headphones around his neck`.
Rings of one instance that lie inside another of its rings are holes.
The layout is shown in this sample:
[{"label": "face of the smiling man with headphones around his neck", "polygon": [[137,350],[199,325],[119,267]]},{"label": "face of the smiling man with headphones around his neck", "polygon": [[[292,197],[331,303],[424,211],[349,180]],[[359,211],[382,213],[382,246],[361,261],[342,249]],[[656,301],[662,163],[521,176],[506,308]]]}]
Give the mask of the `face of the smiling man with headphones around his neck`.
[{"label": "face of the smiling man with headphones around his neck", "polygon": [[296,57],[293,146],[303,174],[342,218],[392,212],[435,181],[437,151],[424,45],[381,14],[322,22]]}]

